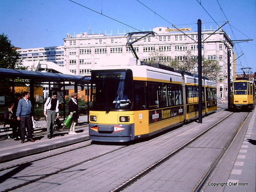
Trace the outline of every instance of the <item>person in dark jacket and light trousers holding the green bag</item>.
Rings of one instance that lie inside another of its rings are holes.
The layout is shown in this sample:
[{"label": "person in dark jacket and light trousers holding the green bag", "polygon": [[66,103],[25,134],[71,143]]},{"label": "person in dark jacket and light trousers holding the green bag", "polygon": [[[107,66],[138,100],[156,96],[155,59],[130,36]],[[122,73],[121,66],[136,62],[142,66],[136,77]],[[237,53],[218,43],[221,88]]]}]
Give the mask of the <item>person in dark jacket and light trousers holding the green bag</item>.
[{"label": "person in dark jacket and light trousers holding the green bag", "polygon": [[71,99],[68,104],[68,112],[70,113],[70,115],[73,116],[68,134],[77,134],[75,132],[75,126],[78,122],[79,113],[78,113],[77,93],[75,92],[71,93]]}]

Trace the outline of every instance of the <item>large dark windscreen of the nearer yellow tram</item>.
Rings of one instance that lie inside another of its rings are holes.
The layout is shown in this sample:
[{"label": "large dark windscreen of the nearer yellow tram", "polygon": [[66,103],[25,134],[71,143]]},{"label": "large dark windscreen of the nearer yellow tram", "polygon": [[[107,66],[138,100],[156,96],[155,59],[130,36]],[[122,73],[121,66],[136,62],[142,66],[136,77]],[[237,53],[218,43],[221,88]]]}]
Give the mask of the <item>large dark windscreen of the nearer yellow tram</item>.
[{"label": "large dark windscreen of the nearer yellow tram", "polygon": [[132,102],[131,70],[92,71],[92,104],[90,110],[130,109]]}]

